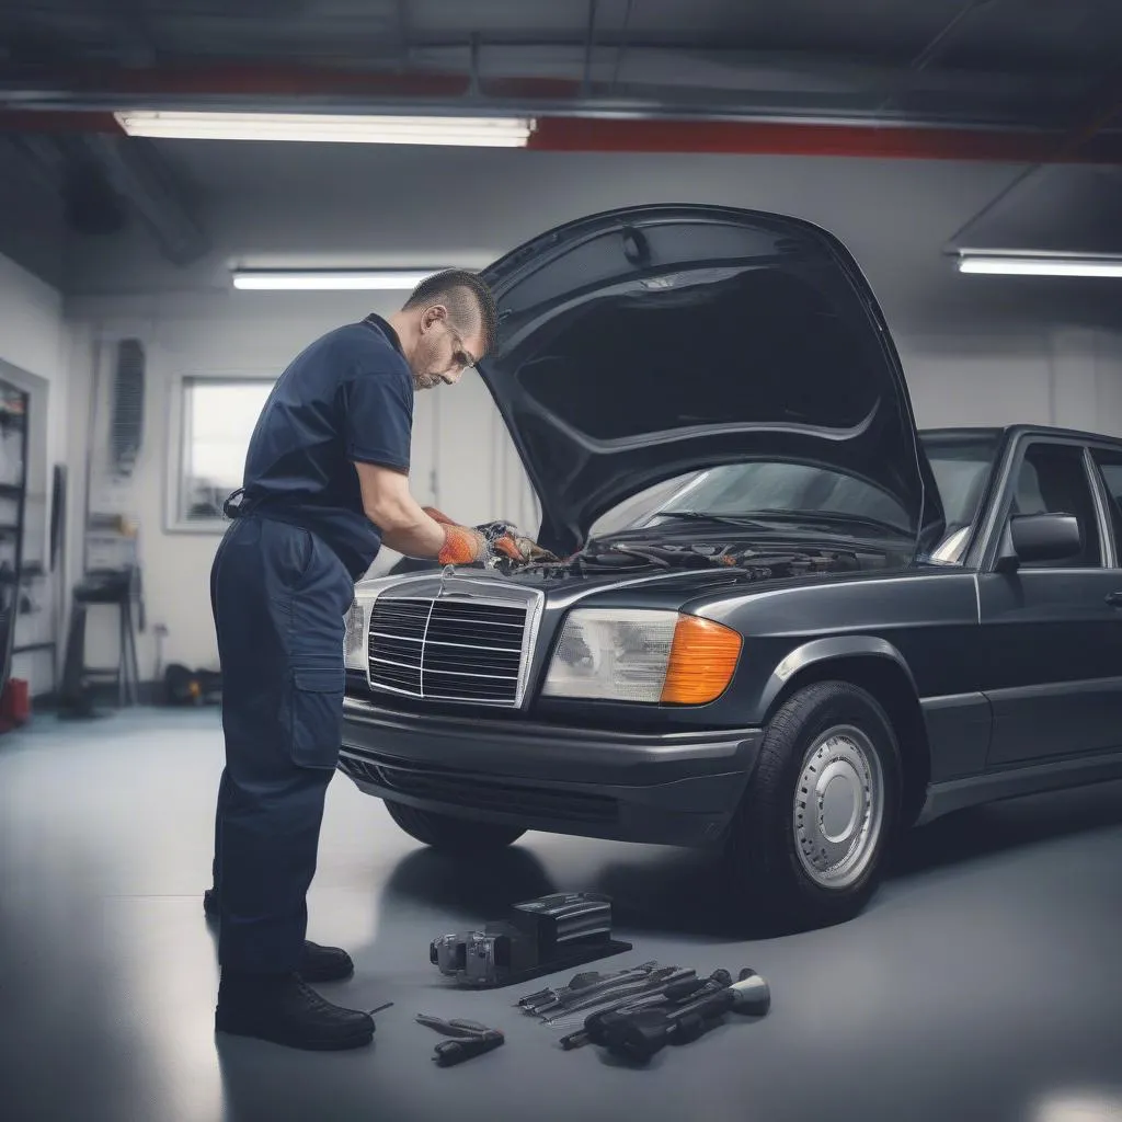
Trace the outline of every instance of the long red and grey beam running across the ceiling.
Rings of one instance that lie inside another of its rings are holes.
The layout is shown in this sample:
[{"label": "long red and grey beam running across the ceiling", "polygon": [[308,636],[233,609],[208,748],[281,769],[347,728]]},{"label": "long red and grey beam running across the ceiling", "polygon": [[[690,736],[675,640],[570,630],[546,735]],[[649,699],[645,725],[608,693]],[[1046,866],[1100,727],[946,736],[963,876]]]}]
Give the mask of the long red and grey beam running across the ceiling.
[{"label": "long red and grey beam running across the ceiling", "polygon": [[[471,74],[356,74],[267,67],[158,72],[75,68],[0,82],[0,128],[120,135],[113,111],[206,109],[518,116],[537,120],[540,151],[725,153],[948,159],[1028,165],[1122,163],[1122,132],[1097,129],[1072,148],[1068,132],[1037,125],[799,111],[793,100],[736,91],[646,90],[646,96],[580,96],[580,81],[488,79]],[[479,86],[484,90],[479,92]],[[655,94],[665,99],[654,100]],[[787,102],[784,105],[783,102]]]}]

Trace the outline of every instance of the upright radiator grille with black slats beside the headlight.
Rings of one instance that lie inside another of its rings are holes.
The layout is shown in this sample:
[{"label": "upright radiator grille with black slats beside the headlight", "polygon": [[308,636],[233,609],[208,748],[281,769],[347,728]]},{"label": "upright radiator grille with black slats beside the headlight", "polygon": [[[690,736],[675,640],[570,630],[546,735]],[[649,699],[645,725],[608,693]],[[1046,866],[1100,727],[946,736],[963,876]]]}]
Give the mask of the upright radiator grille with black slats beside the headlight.
[{"label": "upright radiator grille with black slats beside the headlight", "polygon": [[518,703],[524,605],[385,597],[370,614],[370,684],[416,698]]}]

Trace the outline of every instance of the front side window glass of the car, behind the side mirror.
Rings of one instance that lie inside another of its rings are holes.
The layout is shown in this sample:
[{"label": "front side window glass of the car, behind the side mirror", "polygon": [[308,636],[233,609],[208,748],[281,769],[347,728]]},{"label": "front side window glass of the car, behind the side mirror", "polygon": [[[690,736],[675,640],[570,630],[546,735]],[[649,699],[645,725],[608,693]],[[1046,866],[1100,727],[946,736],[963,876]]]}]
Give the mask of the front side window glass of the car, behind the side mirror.
[{"label": "front side window glass of the car, behind the side mirror", "polygon": [[1059,561],[1032,562],[1024,568],[1075,569],[1102,564],[1098,518],[1082,448],[1046,441],[1029,444],[1014,476],[1010,514],[1070,514],[1079,523],[1083,549],[1077,554]]}]

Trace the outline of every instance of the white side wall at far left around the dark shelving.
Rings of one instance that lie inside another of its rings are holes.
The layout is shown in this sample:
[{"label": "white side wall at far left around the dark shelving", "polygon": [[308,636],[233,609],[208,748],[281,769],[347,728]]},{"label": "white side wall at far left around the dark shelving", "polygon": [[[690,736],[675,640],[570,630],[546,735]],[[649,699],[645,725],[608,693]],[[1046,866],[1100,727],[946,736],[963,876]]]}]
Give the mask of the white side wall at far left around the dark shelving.
[{"label": "white side wall at far left around the dark shelving", "polygon": [[[31,394],[28,433],[28,507],[24,550],[30,560],[46,561],[52,466],[67,459],[67,389],[72,335],[63,321],[63,298],[7,257],[0,256],[0,373]],[[62,582],[61,582],[62,583]],[[62,583],[65,587],[65,583]],[[31,589],[42,610],[18,620],[18,645],[46,642],[55,632],[54,616],[65,605],[53,596],[54,580]],[[61,657],[61,651],[59,651]],[[33,693],[50,688],[50,654],[17,655],[12,674],[27,679]]]}]

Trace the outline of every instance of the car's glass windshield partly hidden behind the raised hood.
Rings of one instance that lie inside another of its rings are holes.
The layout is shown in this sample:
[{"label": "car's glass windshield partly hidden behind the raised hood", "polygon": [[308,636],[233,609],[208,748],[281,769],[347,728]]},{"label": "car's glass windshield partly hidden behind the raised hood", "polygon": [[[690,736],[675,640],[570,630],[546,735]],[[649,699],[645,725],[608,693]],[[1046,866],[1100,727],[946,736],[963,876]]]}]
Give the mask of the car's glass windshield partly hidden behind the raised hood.
[{"label": "car's glass windshield partly hidden behind the raised hood", "polygon": [[[965,543],[993,466],[999,434],[990,430],[921,434],[947,519],[947,539]],[[829,468],[756,460],[679,477],[618,509],[600,533],[673,522],[739,523],[745,528],[910,535],[908,512],[872,484]],[[965,531],[965,532],[964,532]],[[940,546],[941,549],[941,546]],[[953,555],[939,560],[956,560]]]}]

